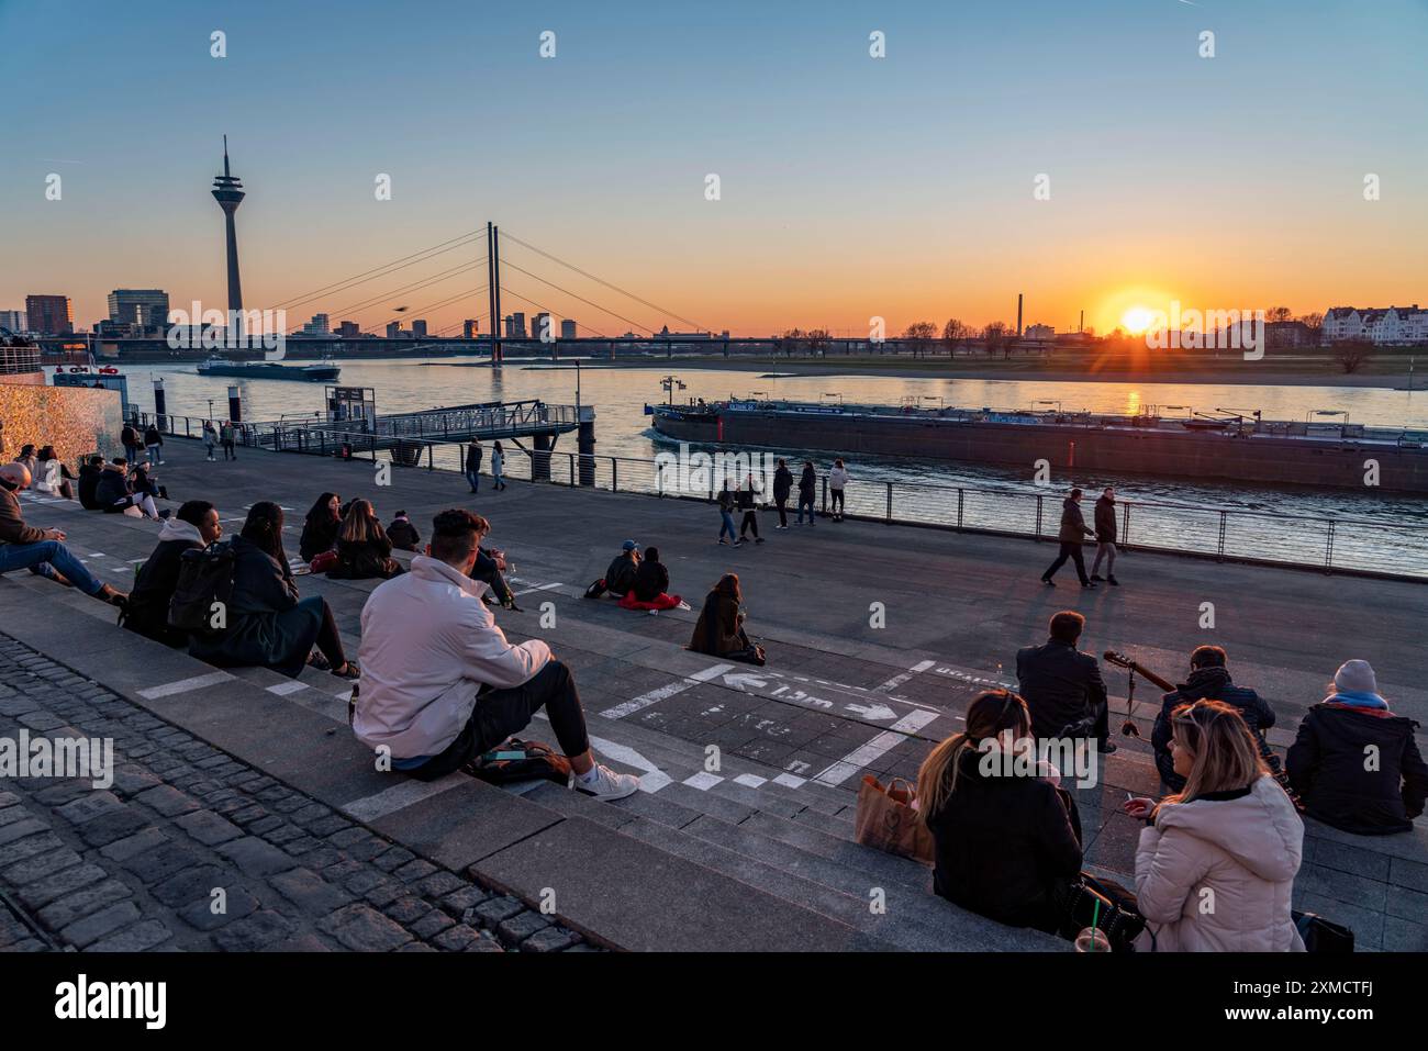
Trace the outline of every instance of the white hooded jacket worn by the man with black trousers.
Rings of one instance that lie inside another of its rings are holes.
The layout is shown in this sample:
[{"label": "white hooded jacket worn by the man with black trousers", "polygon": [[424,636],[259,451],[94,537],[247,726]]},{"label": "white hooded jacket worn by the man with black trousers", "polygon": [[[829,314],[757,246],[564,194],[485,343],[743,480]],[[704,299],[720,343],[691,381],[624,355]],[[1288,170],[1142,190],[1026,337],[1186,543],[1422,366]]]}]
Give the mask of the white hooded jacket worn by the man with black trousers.
[{"label": "white hooded jacket worn by the man with black trousers", "polygon": [[371,593],[357,654],[357,740],[398,760],[436,755],[471,718],[483,684],[520,685],[545,665],[545,643],[506,641],[486,591],[454,565],[417,555],[410,573]]}]

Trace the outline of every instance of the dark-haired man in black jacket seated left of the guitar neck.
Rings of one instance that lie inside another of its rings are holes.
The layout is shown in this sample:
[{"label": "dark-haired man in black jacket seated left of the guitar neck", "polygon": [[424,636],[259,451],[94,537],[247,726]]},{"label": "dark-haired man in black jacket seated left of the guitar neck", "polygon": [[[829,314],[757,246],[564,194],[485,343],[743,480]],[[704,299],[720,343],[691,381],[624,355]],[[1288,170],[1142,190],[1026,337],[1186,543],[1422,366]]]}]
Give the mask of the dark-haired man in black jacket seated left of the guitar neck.
[{"label": "dark-haired man in black jacket seated left of the guitar neck", "polygon": [[1102,753],[1110,741],[1110,704],[1105,680],[1095,657],[1075,648],[1085,617],[1062,610],[1051,618],[1051,637],[1042,645],[1017,651],[1017,681],[1031,711],[1031,728],[1040,740],[1094,737]]}]

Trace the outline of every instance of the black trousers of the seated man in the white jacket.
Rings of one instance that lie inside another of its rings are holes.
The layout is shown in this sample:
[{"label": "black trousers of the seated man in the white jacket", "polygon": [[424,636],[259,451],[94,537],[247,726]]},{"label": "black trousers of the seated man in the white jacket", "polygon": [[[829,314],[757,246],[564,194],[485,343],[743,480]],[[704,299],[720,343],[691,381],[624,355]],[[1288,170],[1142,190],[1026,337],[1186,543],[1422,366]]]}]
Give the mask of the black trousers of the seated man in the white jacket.
[{"label": "black trousers of the seated man in the white jacket", "polygon": [[438,755],[407,773],[421,781],[446,777],[528,727],[531,717],[541,708],[550,717],[561,753],[570,757],[590,751],[585,713],[580,707],[575,680],[570,668],[551,660],[520,685],[481,690],[476,698],[476,711],[457,738]]}]

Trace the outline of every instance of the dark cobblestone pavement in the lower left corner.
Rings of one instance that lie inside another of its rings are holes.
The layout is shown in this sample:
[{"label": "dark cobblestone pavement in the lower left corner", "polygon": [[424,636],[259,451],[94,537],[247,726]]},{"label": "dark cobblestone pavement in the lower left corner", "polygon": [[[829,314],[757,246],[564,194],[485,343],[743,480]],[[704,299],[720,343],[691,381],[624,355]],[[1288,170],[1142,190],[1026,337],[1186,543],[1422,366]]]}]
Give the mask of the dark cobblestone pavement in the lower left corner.
[{"label": "dark cobblestone pavement in the lower left corner", "polygon": [[593,948],[0,634],[21,731],[113,738],[114,783],[0,777],[0,950]]}]

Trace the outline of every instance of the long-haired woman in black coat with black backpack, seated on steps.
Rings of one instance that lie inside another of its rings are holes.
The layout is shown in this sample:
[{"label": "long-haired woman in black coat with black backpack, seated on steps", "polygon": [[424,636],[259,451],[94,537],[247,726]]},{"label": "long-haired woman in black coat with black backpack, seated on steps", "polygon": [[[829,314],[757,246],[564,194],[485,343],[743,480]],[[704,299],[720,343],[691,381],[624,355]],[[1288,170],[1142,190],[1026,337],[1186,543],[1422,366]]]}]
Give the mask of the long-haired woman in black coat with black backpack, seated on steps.
[{"label": "long-haired woman in black coat with black backpack, seated on steps", "polygon": [[[357,678],[327,600],[297,597],[283,550],[283,508],[263,500],[248,510],[233,547],[233,593],[227,625],[211,638],[194,637],[188,653],[220,667],[266,667],[297,678],[306,664],[338,678]],[[317,653],[313,653],[313,645]]]}]

